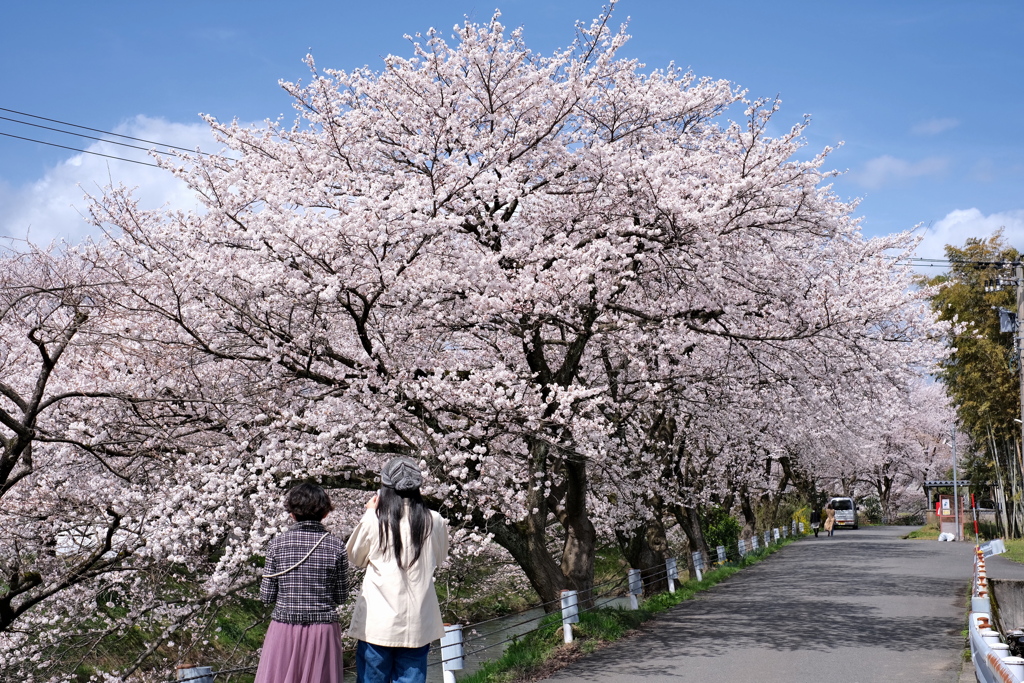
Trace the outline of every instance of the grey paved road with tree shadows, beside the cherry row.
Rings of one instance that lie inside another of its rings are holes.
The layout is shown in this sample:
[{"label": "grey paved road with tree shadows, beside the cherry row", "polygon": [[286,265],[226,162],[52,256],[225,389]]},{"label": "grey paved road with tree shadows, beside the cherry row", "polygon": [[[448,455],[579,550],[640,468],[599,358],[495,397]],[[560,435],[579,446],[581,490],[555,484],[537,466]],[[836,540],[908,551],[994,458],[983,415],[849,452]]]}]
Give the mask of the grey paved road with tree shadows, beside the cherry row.
[{"label": "grey paved road with tree shadows, beside the cherry row", "polygon": [[548,680],[953,683],[974,546],[906,531],[799,541]]}]

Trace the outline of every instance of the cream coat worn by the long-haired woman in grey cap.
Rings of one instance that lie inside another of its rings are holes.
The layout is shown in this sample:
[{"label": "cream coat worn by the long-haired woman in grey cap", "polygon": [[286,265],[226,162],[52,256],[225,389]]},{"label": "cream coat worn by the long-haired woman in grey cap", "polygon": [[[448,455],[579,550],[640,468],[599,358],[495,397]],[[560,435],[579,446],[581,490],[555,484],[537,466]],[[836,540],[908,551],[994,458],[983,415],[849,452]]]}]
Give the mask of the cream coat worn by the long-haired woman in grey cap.
[{"label": "cream coat worn by the long-haired woman in grey cap", "polygon": [[398,568],[391,553],[381,551],[377,511],[367,510],[359,519],[346,549],[349,561],[366,567],[367,575],[352,610],[349,637],[385,647],[422,647],[444,635],[434,569],[447,559],[447,522],[436,512],[430,516],[433,529],[412,566],[409,518],[402,517],[404,569]]}]

